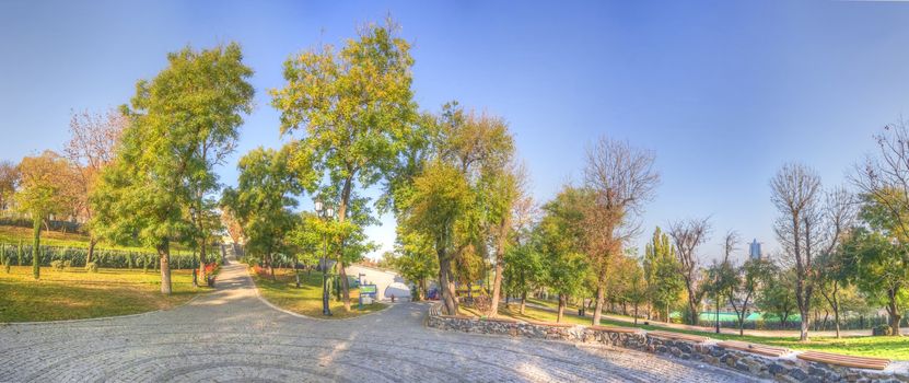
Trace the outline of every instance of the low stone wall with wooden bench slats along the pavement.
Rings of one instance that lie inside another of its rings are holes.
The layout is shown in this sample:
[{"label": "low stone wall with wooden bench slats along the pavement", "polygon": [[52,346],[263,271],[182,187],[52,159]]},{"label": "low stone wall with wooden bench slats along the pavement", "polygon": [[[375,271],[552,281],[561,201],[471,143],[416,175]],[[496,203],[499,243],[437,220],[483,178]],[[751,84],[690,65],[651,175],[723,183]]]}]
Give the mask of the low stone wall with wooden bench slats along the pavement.
[{"label": "low stone wall with wooden bench slats along the pavement", "polygon": [[429,310],[427,326],[464,333],[496,334],[532,339],[601,344],[638,351],[700,361],[778,382],[906,382],[909,371],[904,363],[890,363],[884,371],[854,369],[796,358],[797,351],[773,358],[724,348],[707,341],[674,340],[648,334],[643,329],[608,326],[548,325],[515,320],[489,320],[443,315],[441,304]]}]

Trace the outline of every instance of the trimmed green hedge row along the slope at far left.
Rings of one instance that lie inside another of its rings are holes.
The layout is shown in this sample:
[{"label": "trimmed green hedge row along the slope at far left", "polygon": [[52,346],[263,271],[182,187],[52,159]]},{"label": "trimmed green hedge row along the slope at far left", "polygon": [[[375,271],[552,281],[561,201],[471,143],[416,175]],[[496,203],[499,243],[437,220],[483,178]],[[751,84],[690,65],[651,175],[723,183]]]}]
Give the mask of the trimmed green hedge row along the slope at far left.
[{"label": "trimmed green hedge row along the slope at far left", "polygon": [[[54,260],[69,260],[73,267],[85,267],[88,248],[40,246],[40,265],[50,266]],[[207,263],[219,260],[218,254],[206,254]],[[20,258],[19,244],[0,243],[0,263],[10,260],[13,266],[32,265],[32,245],[22,244]],[[98,267],[105,268],[156,268],[158,254],[151,252],[127,252],[118,249],[95,248],[92,259]],[[191,269],[198,266],[198,257],[190,253],[171,254],[172,269]]]}]

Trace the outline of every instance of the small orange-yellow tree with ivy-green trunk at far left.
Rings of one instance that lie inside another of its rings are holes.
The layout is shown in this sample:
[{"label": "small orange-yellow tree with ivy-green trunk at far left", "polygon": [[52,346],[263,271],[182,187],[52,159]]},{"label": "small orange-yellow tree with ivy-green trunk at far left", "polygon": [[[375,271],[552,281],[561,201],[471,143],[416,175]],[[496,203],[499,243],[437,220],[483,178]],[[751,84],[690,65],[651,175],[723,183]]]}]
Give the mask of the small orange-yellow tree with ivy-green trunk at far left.
[{"label": "small orange-yellow tree with ivy-green trunk at far left", "polygon": [[15,201],[20,211],[32,216],[32,274],[35,279],[40,278],[42,224],[49,216],[72,205],[71,194],[65,189],[71,176],[69,166],[66,159],[53,151],[23,158],[19,164],[22,178]]}]

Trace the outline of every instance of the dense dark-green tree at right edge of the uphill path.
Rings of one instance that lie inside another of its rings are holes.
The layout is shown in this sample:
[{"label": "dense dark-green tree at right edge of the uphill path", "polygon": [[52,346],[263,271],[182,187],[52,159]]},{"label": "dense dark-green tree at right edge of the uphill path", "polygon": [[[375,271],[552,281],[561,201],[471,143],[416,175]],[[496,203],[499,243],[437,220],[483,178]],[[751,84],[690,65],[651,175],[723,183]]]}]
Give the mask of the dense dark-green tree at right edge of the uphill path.
[{"label": "dense dark-green tree at right edge of the uphill path", "polygon": [[299,217],[291,211],[302,189],[289,166],[288,150],[258,148],[240,160],[237,187],[226,188],[222,205],[248,235],[246,252],[265,260],[275,279],[275,256],[290,254],[289,233]]}]

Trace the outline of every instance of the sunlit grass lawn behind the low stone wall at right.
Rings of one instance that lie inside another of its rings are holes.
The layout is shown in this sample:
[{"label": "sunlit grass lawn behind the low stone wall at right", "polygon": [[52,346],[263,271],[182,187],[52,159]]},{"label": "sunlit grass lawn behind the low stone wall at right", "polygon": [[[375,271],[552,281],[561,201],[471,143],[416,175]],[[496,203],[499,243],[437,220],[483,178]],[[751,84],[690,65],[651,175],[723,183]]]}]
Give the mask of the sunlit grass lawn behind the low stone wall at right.
[{"label": "sunlit grass lawn behind the low stone wall at right", "polygon": [[[529,301],[529,300],[528,300]],[[478,312],[471,310],[469,307],[465,307],[465,312],[467,314],[473,314],[476,316],[480,316]],[[574,310],[576,313],[576,310]],[[535,307],[527,306],[524,310],[524,314],[522,315],[518,312],[518,305],[512,304],[510,307],[500,306],[499,313],[504,316],[517,318],[517,320],[535,320],[535,321],[547,321],[547,322],[556,322],[556,313],[549,312],[546,310],[539,310]],[[566,323],[574,323],[579,325],[590,325],[591,320],[590,317],[581,317],[573,315],[571,311],[566,310],[566,316],[563,318]],[[632,324],[620,322],[620,321],[613,321],[613,320],[601,320],[601,324],[603,325],[610,325],[610,326],[619,326],[619,327],[636,327]],[[637,327],[643,329],[660,329],[660,330],[669,330],[675,333],[684,333],[684,334],[694,334],[694,335],[702,335],[709,336],[713,339],[720,340],[744,340],[750,341],[756,344],[764,344],[770,346],[780,346],[786,347],[793,350],[816,350],[816,351],[827,351],[827,352],[837,352],[837,353],[844,353],[844,355],[854,355],[854,356],[862,356],[862,357],[878,357],[878,358],[889,358],[895,360],[909,360],[909,337],[872,337],[872,336],[856,336],[856,337],[843,337],[840,339],[834,337],[812,337],[809,343],[801,343],[796,337],[758,337],[758,336],[738,336],[732,334],[714,334],[709,332],[696,332],[696,330],[685,330],[685,329],[676,329],[676,328],[667,328],[667,327],[660,327],[660,326],[646,326],[646,325],[638,325]]]}]

